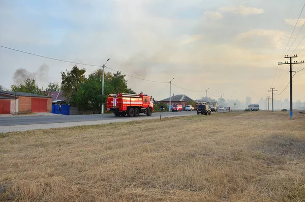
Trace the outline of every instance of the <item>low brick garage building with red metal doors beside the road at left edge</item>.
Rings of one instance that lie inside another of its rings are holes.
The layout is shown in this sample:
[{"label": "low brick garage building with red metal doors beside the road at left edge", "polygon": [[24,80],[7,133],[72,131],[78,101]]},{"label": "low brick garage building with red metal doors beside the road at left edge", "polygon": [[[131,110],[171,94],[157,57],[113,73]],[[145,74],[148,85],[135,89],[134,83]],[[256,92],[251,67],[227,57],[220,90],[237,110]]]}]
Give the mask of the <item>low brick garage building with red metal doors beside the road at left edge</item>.
[{"label": "low brick garage building with red metal doors beside the road at left edge", "polygon": [[52,97],[23,92],[0,91],[0,114],[52,112]]}]

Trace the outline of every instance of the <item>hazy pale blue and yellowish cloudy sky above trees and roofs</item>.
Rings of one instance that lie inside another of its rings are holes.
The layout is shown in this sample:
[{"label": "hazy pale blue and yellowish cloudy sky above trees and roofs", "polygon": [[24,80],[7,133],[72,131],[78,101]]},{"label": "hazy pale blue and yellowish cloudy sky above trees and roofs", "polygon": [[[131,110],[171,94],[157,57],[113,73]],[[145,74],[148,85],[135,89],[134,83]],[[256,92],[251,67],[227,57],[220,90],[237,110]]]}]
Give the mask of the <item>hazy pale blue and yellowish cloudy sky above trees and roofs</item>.
[{"label": "hazy pale blue and yellowish cloudy sky above trees and roofs", "polygon": [[[216,99],[224,94],[255,102],[270,96],[270,87],[281,93],[288,84],[289,66],[277,65],[285,61],[283,52],[305,59],[305,9],[288,43],[303,5],[300,0],[0,0],[0,45],[93,65],[110,58],[109,68],[159,81],[126,76],[137,93],[159,100],[169,97],[174,77],[175,95],[198,99],[209,88],[208,96]],[[35,77],[40,86],[61,82],[60,72],[72,67],[0,47],[0,84],[7,88],[22,76]],[[86,75],[98,68],[78,67]],[[293,78],[294,101],[305,101],[304,80],[305,70]],[[289,86],[276,99],[288,97]]]}]

